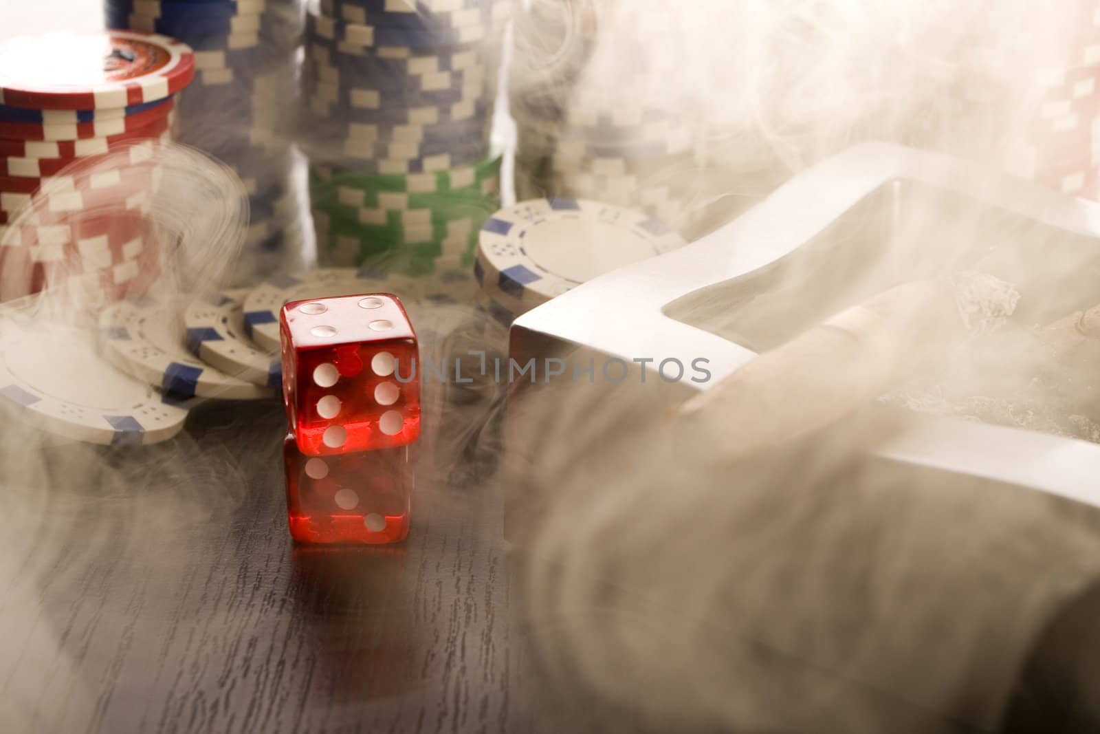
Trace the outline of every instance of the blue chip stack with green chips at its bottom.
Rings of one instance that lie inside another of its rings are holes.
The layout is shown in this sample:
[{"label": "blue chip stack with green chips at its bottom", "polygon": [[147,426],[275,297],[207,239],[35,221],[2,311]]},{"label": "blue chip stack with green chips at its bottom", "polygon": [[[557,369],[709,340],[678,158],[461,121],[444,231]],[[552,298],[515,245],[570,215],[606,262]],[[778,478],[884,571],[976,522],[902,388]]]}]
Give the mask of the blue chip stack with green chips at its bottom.
[{"label": "blue chip stack with green chips at its bottom", "polygon": [[499,206],[490,128],[499,0],[322,0],[306,18],[301,143],[322,264],[473,262]]}]

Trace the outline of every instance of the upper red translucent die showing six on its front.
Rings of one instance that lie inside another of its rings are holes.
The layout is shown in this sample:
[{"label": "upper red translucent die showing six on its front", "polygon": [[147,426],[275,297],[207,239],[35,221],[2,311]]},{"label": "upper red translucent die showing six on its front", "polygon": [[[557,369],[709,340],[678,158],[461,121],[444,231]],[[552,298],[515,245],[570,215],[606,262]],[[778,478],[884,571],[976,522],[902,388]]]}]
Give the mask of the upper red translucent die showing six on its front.
[{"label": "upper red translucent die showing six on its front", "polygon": [[417,341],[400,300],[297,300],[279,315],[283,394],[310,456],[393,448],[420,435]]}]

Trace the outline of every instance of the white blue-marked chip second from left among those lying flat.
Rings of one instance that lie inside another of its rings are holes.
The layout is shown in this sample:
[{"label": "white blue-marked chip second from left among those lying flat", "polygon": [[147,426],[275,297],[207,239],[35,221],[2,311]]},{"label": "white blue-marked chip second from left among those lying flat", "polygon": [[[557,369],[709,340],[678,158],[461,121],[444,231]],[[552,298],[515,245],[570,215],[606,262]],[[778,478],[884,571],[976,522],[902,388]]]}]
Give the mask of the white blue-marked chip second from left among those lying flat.
[{"label": "white blue-marked chip second from left among those lying flat", "polygon": [[99,317],[99,339],[107,359],[127,374],[179,397],[274,397],[273,388],[226,374],[187,351],[179,317],[183,305],[143,296],[106,308]]}]

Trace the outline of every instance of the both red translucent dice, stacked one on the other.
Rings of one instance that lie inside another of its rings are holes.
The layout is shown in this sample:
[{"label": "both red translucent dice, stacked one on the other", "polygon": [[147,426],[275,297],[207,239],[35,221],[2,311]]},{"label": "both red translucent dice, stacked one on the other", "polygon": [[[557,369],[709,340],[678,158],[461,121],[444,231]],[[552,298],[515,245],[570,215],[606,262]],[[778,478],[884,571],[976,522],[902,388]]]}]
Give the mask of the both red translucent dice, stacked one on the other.
[{"label": "both red translucent dice, stacked one on the other", "polygon": [[404,306],[385,293],[296,300],[279,331],[290,535],[403,540],[420,435],[418,347]]}]

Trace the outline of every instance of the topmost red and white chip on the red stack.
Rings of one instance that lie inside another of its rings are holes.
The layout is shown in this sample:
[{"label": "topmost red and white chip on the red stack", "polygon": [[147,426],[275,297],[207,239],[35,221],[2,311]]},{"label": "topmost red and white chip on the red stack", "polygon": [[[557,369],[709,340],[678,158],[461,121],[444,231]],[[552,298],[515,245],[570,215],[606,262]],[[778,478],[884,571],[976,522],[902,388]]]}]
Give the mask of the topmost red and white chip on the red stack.
[{"label": "topmost red and white chip on the red stack", "polygon": [[153,102],[195,77],[190,46],[138,31],[54,32],[0,43],[0,105],[97,110]]}]

